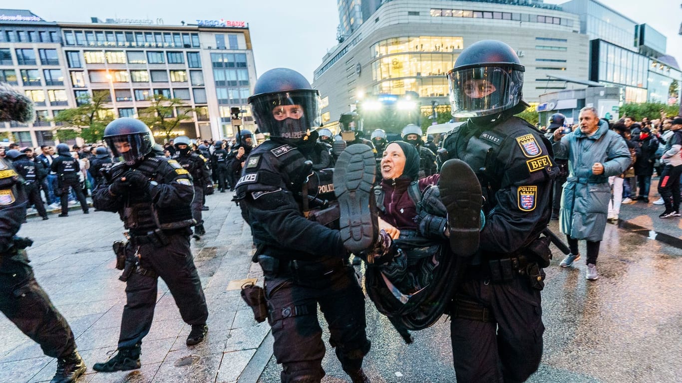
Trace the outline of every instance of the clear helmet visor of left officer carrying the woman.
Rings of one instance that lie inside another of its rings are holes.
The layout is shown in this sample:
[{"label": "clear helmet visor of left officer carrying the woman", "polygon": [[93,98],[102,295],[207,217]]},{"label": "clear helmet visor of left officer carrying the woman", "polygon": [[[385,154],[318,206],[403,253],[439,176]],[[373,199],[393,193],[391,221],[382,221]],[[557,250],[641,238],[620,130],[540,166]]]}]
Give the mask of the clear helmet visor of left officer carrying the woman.
[{"label": "clear helmet visor of left officer carrying the woman", "polygon": [[317,91],[301,90],[251,97],[258,129],[271,137],[297,140],[320,126]]}]

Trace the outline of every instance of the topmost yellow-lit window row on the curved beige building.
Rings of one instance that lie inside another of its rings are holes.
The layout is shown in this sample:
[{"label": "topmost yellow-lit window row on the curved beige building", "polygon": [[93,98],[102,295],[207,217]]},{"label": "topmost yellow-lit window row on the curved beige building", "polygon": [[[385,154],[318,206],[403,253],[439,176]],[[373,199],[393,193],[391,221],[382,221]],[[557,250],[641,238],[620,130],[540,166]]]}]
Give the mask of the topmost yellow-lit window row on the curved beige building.
[{"label": "topmost yellow-lit window row on the curved beige building", "polygon": [[[464,48],[463,37],[402,36],[372,45],[372,58],[404,52],[453,52]],[[451,69],[451,68],[450,68]]]}]

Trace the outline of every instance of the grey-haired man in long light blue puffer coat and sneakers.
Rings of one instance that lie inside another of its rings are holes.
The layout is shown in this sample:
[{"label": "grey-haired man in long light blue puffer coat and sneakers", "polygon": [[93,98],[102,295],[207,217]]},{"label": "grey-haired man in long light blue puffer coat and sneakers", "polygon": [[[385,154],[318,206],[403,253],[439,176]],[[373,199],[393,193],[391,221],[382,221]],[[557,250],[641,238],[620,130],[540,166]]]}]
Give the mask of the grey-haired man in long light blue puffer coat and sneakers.
[{"label": "grey-haired man in long light blue puffer coat and sneakers", "polygon": [[587,241],[587,275],[593,281],[597,274],[599,244],[606,228],[608,200],[611,198],[608,177],[621,174],[630,164],[625,140],[600,121],[597,110],[582,108],[580,129],[569,134],[554,131],[554,157],[568,159],[568,178],[561,195],[559,228],[566,234],[571,254],[560,266],[568,267],[580,259],[578,240]]}]

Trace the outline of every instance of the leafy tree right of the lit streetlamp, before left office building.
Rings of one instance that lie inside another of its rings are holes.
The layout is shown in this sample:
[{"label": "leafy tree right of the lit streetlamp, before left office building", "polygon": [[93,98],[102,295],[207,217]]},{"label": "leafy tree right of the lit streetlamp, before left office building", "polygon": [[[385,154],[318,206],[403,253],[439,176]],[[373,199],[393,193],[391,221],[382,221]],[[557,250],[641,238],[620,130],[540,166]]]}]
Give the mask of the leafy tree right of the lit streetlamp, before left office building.
[{"label": "leafy tree right of the lit streetlamp, before left office building", "polygon": [[140,121],[151,127],[152,132],[164,134],[166,140],[170,140],[170,134],[182,121],[194,119],[194,108],[185,106],[182,99],[167,98],[164,95],[153,95],[147,99],[151,106],[140,110]]}]

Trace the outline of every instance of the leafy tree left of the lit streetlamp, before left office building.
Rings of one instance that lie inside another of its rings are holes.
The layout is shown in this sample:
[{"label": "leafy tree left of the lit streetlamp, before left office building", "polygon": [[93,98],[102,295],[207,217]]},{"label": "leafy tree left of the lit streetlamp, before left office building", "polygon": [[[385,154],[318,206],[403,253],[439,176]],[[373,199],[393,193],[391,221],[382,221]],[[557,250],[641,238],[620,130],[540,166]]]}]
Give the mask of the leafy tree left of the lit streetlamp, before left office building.
[{"label": "leafy tree left of the lit streetlamp, before left office building", "polygon": [[57,138],[60,141],[73,140],[80,136],[85,142],[97,142],[104,136],[104,128],[113,121],[110,108],[104,108],[110,102],[108,93],[95,93],[78,99],[79,106],[59,112],[53,119],[63,125],[57,127]]}]

